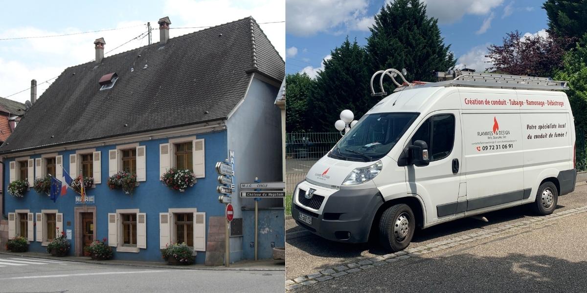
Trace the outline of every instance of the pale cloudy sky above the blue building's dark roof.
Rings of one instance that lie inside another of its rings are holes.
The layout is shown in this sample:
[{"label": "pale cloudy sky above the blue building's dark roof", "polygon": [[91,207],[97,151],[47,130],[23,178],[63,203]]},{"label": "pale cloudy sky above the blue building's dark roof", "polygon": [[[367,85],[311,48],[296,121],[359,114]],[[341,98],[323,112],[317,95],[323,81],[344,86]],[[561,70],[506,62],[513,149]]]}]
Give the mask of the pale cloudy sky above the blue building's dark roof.
[{"label": "pale cloudy sky above the blue building's dark roof", "polygon": [[[45,4],[42,4],[45,3]],[[67,67],[93,60],[94,40],[103,37],[105,57],[148,44],[146,23],[158,28],[164,16],[171,20],[170,38],[248,16],[285,59],[285,2],[274,0],[131,0],[131,1],[7,1],[0,10],[0,39],[53,36],[116,29],[53,38],[0,40],[0,97],[23,103],[30,100],[31,80],[38,97]],[[264,22],[278,22],[266,23]],[[144,36],[144,35],[143,35]],[[159,31],[153,30],[153,43]],[[130,42],[129,42],[130,41]],[[126,43],[128,42],[128,43]],[[126,45],[123,45],[126,43]],[[120,46],[123,45],[123,46]],[[110,50],[119,48],[109,52]],[[44,83],[43,81],[49,80]],[[22,91],[22,93],[18,93]]]}]

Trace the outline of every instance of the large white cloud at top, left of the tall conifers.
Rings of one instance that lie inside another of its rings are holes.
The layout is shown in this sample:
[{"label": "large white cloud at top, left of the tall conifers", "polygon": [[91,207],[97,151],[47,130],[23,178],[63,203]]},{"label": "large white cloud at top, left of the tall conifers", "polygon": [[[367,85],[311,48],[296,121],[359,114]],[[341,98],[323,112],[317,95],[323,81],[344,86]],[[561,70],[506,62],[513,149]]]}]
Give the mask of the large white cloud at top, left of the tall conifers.
[{"label": "large white cloud at top, left of the tall conifers", "polygon": [[366,31],[373,24],[367,15],[368,0],[287,0],[286,30],[296,36],[312,36],[319,32],[345,33]]}]

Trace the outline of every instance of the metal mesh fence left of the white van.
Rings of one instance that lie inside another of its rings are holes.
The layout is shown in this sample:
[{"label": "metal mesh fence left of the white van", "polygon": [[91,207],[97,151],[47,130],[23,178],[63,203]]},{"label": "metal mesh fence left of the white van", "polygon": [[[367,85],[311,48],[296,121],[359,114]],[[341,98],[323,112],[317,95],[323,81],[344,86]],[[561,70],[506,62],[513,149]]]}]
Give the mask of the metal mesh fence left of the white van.
[{"label": "metal mesh fence left of the white van", "polygon": [[339,132],[295,132],[285,135],[285,179],[286,193],[289,194],[341,136]]}]

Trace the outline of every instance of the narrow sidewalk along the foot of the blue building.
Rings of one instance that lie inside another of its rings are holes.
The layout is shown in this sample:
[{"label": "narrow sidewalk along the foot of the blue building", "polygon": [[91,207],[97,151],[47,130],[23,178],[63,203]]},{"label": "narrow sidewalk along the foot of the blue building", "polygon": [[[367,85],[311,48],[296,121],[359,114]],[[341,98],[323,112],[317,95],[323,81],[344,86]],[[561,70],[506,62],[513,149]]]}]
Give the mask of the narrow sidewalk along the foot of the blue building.
[{"label": "narrow sidewalk along the foot of the blue building", "polygon": [[76,261],[78,263],[88,264],[109,264],[109,265],[132,265],[135,267],[153,267],[153,268],[173,268],[173,269],[184,269],[184,270],[216,270],[216,271],[285,271],[285,263],[277,263],[274,260],[244,260],[238,261],[237,263],[230,264],[230,267],[207,267],[203,264],[193,265],[168,265],[164,262],[156,261],[127,261],[127,260],[92,260],[90,257],[54,257],[46,253],[12,253],[9,251],[0,251],[0,254],[8,254],[23,257],[36,257],[44,258],[46,260],[59,260],[59,261]]}]

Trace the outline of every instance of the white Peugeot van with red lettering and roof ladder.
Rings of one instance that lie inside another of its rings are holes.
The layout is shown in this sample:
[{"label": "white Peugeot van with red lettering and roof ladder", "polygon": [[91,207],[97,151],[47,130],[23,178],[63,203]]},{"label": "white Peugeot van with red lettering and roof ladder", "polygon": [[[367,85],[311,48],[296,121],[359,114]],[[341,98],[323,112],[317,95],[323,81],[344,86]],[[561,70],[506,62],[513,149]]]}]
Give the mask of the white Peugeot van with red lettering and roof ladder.
[{"label": "white Peugeot van with red lettering and roof ladder", "polygon": [[377,233],[384,248],[398,251],[416,227],[524,204],[551,214],[558,196],[575,189],[566,82],[457,73],[415,85],[397,70],[378,71],[382,92],[386,75],[399,75],[404,85],[393,79],[396,92],[296,186],[296,222],[348,243]]}]

